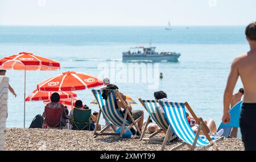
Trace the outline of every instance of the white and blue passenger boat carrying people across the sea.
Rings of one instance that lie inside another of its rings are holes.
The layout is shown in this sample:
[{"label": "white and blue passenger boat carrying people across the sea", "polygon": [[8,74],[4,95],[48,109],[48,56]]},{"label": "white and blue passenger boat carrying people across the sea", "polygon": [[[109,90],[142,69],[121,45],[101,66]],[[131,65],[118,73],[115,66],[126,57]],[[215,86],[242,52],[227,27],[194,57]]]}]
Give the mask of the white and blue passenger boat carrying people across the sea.
[{"label": "white and blue passenger boat carrying people across the sea", "polygon": [[[156,47],[132,47],[128,52],[123,52],[123,61],[171,61],[177,62],[180,53],[176,52],[155,52]],[[131,52],[135,51],[135,52]]]}]

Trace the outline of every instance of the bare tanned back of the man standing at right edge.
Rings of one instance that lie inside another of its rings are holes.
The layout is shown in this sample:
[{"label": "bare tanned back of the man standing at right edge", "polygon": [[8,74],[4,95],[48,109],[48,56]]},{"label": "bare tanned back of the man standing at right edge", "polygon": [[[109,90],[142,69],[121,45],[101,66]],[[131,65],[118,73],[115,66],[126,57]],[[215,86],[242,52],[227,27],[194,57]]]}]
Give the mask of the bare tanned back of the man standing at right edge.
[{"label": "bare tanned back of the man standing at right edge", "polygon": [[236,58],[234,66],[241,77],[245,94],[244,103],[256,103],[256,52],[247,52]]}]

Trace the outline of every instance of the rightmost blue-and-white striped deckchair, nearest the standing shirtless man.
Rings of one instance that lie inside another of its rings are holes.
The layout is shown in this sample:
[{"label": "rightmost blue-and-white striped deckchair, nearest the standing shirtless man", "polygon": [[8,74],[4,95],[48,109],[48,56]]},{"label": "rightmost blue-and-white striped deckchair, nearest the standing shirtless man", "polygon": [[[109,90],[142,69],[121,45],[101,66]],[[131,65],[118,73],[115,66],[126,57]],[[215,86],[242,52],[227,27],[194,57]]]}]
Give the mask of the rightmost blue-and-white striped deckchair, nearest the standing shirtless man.
[{"label": "rightmost blue-and-white striped deckchair, nearest the standing shirtless man", "polygon": [[[205,128],[203,127],[203,123],[199,121],[199,119],[196,117],[196,114],[193,112],[193,110],[191,109],[187,102],[177,103],[160,101],[159,104],[163,107],[168,123],[170,124],[170,127],[168,127],[167,130],[167,134],[174,131],[174,133],[181,140],[183,140],[183,143],[172,148],[171,150],[181,148],[185,144],[187,144],[191,150],[194,150],[196,146],[201,147],[201,149],[207,149],[213,146],[214,150],[218,150],[216,143],[223,140],[224,137],[210,137]],[[192,128],[190,127],[187,121],[187,117],[185,114],[185,106],[187,107],[192,117],[196,120],[197,124],[199,124],[197,134],[193,132]],[[201,130],[204,132],[205,136],[199,135]],[[165,146],[166,139],[164,139],[162,150],[164,150]]]}]

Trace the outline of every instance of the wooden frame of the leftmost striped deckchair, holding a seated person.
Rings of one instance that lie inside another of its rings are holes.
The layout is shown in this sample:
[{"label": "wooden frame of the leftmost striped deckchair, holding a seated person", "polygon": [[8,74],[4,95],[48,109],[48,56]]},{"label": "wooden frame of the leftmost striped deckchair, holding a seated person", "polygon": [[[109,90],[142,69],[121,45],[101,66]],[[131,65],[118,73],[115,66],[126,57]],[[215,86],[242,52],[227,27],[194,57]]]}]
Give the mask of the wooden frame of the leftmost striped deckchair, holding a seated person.
[{"label": "wooden frame of the leftmost striped deckchair, holding a seated person", "polygon": [[[100,117],[101,117],[101,107],[100,107],[100,104],[98,103],[98,106],[99,106],[100,110],[98,111],[98,117],[97,117],[97,121],[96,121],[96,127],[94,128],[94,132],[93,132],[93,138],[96,138],[97,136],[100,136],[100,135],[115,135],[115,136],[122,137],[123,133],[126,132],[127,130],[129,130],[133,126],[135,126],[135,128],[139,132],[139,135],[141,135],[141,130],[139,130],[139,127],[136,124],[136,123],[138,123],[141,120],[141,117],[139,117],[138,119],[136,119],[134,121],[134,119],[131,116],[131,114],[128,113],[129,112],[128,106],[126,105],[125,101],[123,100],[122,95],[120,94],[120,92],[118,90],[114,90],[114,92],[117,93],[120,101],[122,102],[122,105],[125,106],[125,107],[122,107],[123,109],[125,109],[125,117],[123,117],[121,132],[119,132],[119,133],[116,133],[116,132],[114,132],[114,133],[105,132],[109,127],[112,127],[113,130],[115,131],[115,128],[113,127],[112,123],[109,123],[104,128],[102,128],[100,131],[97,131],[97,125],[100,122]],[[93,90],[92,90],[92,93],[93,93]],[[94,93],[93,93],[93,95],[94,95],[94,97],[95,97],[95,99],[97,101],[96,95]],[[130,119],[131,124],[129,126],[127,126],[126,129],[124,129],[127,117]]]}]

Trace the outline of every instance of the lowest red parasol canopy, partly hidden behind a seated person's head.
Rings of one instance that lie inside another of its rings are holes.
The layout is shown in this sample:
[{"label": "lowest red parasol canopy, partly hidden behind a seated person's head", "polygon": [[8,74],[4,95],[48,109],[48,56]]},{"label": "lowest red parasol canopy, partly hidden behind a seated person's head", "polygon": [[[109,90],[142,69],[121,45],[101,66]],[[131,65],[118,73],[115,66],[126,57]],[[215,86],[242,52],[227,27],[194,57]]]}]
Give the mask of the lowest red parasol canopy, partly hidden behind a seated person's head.
[{"label": "lowest red parasol canopy, partly hidden behind a seated person's head", "polygon": [[[28,95],[28,97],[26,98],[26,101],[49,100],[51,99],[52,93],[54,92],[38,91],[38,89],[35,89],[30,95]],[[57,93],[60,94],[61,99],[77,97],[77,94],[73,92],[59,91]]]}]

